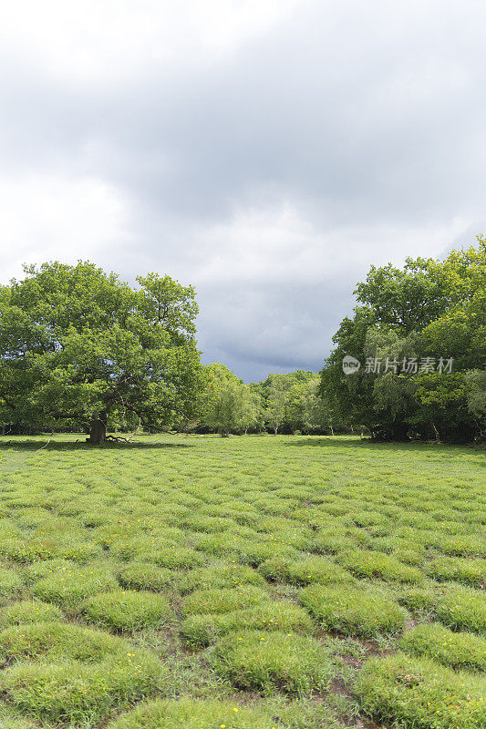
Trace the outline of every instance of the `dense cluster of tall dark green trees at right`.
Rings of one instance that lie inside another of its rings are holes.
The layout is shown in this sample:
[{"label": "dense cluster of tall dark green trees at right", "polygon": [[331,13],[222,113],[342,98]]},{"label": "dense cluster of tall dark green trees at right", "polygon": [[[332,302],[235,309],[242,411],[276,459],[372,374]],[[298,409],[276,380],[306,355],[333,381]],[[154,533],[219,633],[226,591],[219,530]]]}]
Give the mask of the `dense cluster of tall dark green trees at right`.
[{"label": "dense cluster of tall dark green trees at right", "polygon": [[[467,442],[486,430],[486,240],[444,261],[371,267],[334,337],[320,392],[384,439]],[[360,367],[343,371],[343,358]]]}]

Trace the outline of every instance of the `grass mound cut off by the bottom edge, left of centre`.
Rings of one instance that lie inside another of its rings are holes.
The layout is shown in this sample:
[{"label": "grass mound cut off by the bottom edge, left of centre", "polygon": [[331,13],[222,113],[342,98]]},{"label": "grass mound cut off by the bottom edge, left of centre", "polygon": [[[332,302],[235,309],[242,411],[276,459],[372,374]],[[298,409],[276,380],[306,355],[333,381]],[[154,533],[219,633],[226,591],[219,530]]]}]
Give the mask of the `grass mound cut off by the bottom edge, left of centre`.
[{"label": "grass mound cut off by the bottom edge, left of centre", "polygon": [[155,701],[120,716],[109,729],[278,729],[275,722],[256,709],[229,701]]}]

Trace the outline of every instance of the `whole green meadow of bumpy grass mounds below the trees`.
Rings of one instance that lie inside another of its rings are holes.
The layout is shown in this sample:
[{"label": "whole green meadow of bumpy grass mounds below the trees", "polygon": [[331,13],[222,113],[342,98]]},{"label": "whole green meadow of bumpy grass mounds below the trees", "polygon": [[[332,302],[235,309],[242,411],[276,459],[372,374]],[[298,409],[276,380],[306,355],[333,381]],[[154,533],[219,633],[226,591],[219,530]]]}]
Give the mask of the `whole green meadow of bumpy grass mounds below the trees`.
[{"label": "whole green meadow of bumpy grass mounds below the trees", "polygon": [[0,727],[486,725],[486,458],[0,438]]}]

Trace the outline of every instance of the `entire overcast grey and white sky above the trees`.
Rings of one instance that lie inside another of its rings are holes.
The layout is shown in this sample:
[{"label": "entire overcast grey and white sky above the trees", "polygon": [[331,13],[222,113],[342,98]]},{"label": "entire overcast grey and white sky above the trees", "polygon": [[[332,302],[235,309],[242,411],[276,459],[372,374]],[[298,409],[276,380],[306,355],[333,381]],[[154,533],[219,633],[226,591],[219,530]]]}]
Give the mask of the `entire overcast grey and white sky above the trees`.
[{"label": "entire overcast grey and white sky above the trees", "polygon": [[371,263],[486,232],[483,0],[16,0],[0,36],[1,282],[169,273],[255,380],[321,368]]}]

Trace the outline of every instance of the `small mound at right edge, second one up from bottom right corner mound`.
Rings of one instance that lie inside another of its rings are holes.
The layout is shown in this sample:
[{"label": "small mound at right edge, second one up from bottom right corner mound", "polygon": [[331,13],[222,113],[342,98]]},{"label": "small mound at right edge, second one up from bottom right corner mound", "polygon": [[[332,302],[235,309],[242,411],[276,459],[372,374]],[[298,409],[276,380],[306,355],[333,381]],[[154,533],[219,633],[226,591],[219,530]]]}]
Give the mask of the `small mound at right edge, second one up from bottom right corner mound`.
[{"label": "small mound at right edge, second one up from bottom right corner mound", "polygon": [[453,631],[486,632],[486,595],[457,585],[439,597],[434,607],[438,620]]}]

